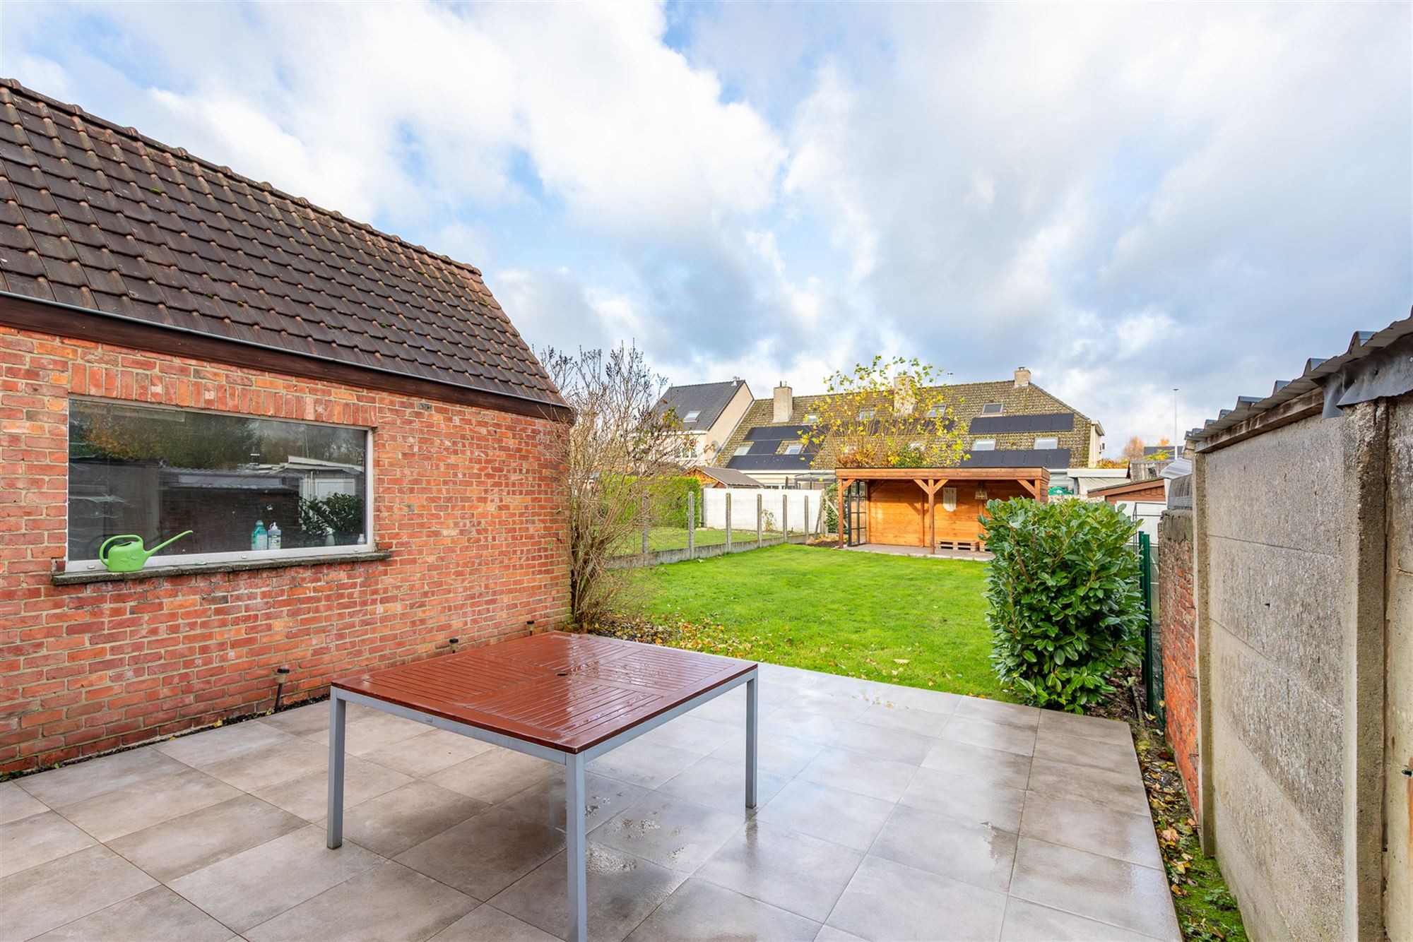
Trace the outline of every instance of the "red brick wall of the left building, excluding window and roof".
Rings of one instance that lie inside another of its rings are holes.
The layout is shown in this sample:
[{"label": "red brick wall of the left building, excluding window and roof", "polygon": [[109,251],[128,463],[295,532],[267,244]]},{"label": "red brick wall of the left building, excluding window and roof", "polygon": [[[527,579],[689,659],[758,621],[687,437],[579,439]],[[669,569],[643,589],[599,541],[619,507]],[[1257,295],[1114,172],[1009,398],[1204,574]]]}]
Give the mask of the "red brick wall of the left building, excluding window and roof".
[{"label": "red brick wall of the left building, excluding window and roof", "polygon": [[[374,428],[380,562],[55,586],[68,395]],[[0,328],[0,771],[268,709],[562,624],[555,424]]]}]

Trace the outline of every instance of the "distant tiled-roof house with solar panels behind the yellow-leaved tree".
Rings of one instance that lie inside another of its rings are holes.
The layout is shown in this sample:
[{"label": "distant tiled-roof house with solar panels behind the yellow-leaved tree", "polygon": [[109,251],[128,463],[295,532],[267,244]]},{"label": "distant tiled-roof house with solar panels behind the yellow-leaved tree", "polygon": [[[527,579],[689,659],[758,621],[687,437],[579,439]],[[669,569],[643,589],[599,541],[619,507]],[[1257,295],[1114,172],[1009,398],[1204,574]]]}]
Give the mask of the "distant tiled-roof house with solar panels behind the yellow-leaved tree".
[{"label": "distant tiled-roof house with solar panels behind the yellow-leaved tree", "polygon": [[[1104,429],[1051,393],[1030,381],[1030,370],[996,383],[948,386],[952,410],[968,422],[966,467],[1044,467],[1050,487],[1074,493],[1075,475],[1095,475],[1104,451]],[[781,383],[771,398],[756,400],[726,439],[716,465],[745,472],[763,484],[794,483],[811,472],[831,472],[836,455],[801,443],[818,419],[824,395],[794,395]],[[1118,476],[1125,476],[1123,470]],[[1105,480],[1112,483],[1112,480]]]}]

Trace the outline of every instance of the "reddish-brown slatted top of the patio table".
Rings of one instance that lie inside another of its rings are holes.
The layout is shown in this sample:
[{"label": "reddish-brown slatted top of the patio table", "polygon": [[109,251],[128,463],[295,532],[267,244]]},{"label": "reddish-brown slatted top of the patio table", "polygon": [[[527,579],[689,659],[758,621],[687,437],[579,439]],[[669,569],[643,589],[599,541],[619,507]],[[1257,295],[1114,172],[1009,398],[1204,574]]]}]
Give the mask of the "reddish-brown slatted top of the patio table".
[{"label": "reddish-brown slatted top of the patio table", "polygon": [[346,676],[333,686],[581,753],[755,667],[715,654],[547,631]]}]

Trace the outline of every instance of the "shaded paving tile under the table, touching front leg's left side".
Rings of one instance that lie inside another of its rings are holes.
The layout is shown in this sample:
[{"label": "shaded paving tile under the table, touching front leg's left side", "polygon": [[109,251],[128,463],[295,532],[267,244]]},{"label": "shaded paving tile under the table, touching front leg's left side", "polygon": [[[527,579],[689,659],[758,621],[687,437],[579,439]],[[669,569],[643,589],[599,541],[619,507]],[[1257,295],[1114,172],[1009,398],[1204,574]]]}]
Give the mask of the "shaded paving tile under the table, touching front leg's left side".
[{"label": "shaded paving tile under the table, touching front leg's left side", "polygon": [[564,832],[490,808],[397,856],[397,861],[486,901],[564,849]]}]

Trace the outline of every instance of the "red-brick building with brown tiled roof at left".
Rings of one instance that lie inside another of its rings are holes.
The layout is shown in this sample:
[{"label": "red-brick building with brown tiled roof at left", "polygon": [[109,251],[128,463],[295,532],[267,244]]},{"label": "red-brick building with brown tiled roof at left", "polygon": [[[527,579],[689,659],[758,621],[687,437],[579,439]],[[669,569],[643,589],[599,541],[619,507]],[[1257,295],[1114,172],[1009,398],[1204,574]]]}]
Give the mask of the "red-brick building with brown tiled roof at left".
[{"label": "red-brick building with brown tiled roof at left", "polygon": [[569,410],[480,271],[14,82],[0,174],[0,773],[565,620]]}]

